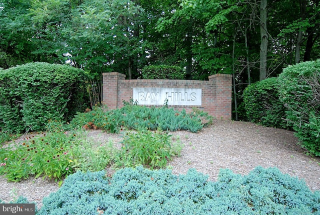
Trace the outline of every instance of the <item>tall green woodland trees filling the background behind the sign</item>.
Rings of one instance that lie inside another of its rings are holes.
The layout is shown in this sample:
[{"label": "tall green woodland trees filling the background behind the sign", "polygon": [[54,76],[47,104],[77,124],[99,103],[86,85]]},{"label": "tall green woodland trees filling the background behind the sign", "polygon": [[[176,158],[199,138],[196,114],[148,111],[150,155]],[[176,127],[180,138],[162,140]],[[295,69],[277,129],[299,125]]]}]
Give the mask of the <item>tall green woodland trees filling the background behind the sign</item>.
[{"label": "tall green woodland trees filling the background behind the sign", "polygon": [[[319,0],[0,0],[0,67],[69,63],[141,78],[232,73],[234,92],[320,57]],[[235,95],[236,98],[236,95]]]}]

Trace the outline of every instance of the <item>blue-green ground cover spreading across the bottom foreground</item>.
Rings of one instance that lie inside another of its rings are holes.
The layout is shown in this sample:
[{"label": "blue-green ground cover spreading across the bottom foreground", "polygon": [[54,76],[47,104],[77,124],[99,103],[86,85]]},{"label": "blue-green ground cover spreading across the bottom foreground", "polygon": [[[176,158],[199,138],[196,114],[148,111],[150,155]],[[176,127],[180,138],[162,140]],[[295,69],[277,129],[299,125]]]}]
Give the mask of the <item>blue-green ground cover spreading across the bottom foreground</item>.
[{"label": "blue-green ground cover spreading across the bottom foreground", "polygon": [[241,176],[221,169],[216,182],[189,169],[123,168],[76,172],[43,198],[38,214],[316,214],[320,193],[277,168],[256,167]]}]

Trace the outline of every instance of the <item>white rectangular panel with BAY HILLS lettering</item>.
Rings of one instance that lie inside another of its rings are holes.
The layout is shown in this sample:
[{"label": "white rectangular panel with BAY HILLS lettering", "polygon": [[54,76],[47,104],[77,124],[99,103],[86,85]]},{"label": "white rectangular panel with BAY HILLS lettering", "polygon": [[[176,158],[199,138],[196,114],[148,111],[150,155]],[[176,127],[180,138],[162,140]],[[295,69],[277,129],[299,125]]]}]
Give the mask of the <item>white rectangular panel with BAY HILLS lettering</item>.
[{"label": "white rectangular panel with BAY HILLS lettering", "polygon": [[195,88],[160,88],[135,87],[133,101],[141,105],[201,105],[202,89]]}]

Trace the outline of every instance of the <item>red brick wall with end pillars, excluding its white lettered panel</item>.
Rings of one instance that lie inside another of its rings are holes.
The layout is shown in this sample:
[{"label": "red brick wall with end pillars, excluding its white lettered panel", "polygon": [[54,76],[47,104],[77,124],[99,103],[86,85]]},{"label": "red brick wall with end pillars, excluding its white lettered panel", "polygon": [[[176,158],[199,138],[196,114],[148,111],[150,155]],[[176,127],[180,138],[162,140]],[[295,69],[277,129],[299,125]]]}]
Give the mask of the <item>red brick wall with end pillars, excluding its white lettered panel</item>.
[{"label": "red brick wall with end pillars, excluding its white lettered panel", "polygon": [[[110,109],[122,107],[122,100],[129,101],[133,87],[201,88],[200,106],[168,105],[187,112],[197,107],[217,119],[231,119],[231,74],[214,74],[209,80],[141,79],[126,80],[118,72],[103,73],[102,102]],[[148,105],[146,105],[148,106]]]}]

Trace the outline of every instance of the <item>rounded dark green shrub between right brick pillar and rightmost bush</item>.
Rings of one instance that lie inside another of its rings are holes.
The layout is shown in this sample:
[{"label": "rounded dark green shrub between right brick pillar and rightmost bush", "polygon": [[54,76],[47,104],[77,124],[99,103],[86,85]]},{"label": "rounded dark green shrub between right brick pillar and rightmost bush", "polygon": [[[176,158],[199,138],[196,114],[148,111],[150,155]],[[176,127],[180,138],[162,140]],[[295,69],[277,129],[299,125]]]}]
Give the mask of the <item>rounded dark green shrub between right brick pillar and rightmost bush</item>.
[{"label": "rounded dark green shrub between right brick pillar and rightmost bush", "polygon": [[279,100],[280,84],[276,77],[266,78],[247,86],[243,102],[247,117],[269,127],[287,128],[285,107]]}]

